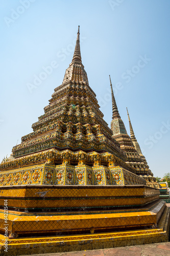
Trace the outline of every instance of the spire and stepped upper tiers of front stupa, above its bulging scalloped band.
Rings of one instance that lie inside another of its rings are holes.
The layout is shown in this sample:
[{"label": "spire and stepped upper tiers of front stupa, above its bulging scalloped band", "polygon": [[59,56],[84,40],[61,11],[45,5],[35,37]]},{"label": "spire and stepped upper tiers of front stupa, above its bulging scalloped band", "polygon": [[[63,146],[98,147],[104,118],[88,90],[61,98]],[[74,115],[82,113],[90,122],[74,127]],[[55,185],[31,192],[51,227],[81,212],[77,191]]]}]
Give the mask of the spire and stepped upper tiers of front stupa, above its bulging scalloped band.
[{"label": "spire and stepped upper tiers of front stupa, above its bulging scalloped band", "polygon": [[22,143],[13,147],[14,157],[21,157],[49,148],[85,152],[109,152],[125,160],[124,152],[103,119],[96,95],[89,87],[81,61],[80,32],[72,61],[61,86],[32,127],[34,132],[23,136]]}]

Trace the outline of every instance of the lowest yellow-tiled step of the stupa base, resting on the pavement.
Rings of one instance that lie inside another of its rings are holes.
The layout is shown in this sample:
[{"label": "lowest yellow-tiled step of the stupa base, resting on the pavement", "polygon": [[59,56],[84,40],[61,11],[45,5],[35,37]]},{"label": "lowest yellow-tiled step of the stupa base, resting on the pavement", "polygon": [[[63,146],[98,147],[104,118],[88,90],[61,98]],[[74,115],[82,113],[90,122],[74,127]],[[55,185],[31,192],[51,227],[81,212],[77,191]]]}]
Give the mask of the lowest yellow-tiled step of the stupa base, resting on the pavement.
[{"label": "lowest yellow-tiled step of the stupa base, resting on the pavement", "polygon": [[[153,215],[154,216],[154,215]],[[4,252],[4,236],[0,235],[1,255],[24,255],[75,250],[110,248],[127,245],[149,244],[168,241],[169,209],[166,209],[158,222],[158,228],[51,236],[39,238],[9,239],[8,253]]]}]

